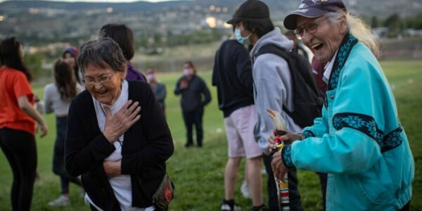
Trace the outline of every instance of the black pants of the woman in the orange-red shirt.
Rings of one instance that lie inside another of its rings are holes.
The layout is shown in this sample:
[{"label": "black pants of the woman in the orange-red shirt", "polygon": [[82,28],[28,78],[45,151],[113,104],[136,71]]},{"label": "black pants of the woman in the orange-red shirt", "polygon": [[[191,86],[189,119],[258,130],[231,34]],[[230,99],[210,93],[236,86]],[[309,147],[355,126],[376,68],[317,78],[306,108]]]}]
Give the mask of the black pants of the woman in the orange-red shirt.
[{"label": "black pants of the woman in the orange-red shirt", "polygon": [[0,147],[13,172],[12,209],[30,210],[37,170],[35,136],[4,127],[0,129]]}]

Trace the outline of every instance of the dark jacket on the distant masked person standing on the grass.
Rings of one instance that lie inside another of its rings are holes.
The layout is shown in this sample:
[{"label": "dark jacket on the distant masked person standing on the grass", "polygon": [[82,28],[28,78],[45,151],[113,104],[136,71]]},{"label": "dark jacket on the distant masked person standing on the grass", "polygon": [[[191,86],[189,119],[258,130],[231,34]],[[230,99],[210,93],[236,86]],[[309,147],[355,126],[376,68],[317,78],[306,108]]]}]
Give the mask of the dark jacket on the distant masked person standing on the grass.
[{"label": "dark jacket on the distant masked person standing on the grass", "polygon": [[[181,94],[180,105],[184,112],[191,112],[198,108],[203,108],[205,105],[210,103],[210,90],[202,78],[197,75],[193,75],[193,77],[188,80],[188,87],[186,89],[179,89],[182,79],[187,80],[186,77],[181,77],[177,81],[174,94]],[[202,96],[204,96],[204,99]]]}]

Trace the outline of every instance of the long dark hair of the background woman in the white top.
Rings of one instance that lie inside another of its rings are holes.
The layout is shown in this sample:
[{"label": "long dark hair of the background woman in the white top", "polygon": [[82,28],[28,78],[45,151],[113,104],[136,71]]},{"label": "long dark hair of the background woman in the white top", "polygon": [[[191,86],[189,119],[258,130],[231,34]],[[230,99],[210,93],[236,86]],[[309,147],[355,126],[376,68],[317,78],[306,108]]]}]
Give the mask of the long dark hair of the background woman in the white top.
[{"label": "long dark hair of the background woman in the white top", "polygon": [[70,101],[76,96],[76,80],[73,76],[73,70],[61,59],[54,63],[54,79],[63,101]]}]

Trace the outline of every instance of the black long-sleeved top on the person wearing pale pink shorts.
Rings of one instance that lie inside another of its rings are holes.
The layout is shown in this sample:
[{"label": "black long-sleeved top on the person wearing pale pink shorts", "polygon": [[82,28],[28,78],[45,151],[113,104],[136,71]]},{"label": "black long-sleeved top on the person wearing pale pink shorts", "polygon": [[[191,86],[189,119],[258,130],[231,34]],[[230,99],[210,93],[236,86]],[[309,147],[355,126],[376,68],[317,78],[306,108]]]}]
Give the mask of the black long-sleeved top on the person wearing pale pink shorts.
[{"label": "black long-sleeved top on the person wearing pale pink shorts", "polygon": [[252,63],[245,46],[226,40],[215,53],[212,85],[217,87],[219,109],[224,117],[253,104]]}]

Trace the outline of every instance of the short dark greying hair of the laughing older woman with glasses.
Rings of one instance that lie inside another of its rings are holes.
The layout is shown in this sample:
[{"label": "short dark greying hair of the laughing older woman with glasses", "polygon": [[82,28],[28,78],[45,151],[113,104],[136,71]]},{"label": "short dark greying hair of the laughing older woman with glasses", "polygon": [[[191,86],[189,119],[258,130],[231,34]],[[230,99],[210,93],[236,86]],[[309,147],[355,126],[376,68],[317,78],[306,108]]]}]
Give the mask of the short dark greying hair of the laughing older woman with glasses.
[{"label": "short dark greying hair of the laughing older woman with glasses", "polygon": [[88,65],[96,65],[101,68],[110,67],[114,71],[124,72],[127,60],[124,58],[119,44],[110,37],[98,37],[82,44],[77,58],[79,68],[85,72]]}]

